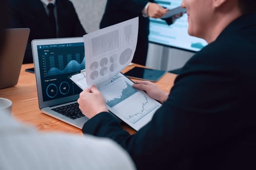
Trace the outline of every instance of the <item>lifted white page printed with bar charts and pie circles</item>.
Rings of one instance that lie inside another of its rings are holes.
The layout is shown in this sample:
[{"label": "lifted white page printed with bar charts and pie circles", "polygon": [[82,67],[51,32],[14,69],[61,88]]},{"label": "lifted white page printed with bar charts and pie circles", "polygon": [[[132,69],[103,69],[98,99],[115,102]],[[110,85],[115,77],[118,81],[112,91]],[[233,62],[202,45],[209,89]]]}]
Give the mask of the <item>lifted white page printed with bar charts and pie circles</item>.
[{"label": "lifted white page printed with bar charts and pie circles", "polygon": [[136,50],[138,17],[86,34],[86,82],[97,85],[127,67]]}]

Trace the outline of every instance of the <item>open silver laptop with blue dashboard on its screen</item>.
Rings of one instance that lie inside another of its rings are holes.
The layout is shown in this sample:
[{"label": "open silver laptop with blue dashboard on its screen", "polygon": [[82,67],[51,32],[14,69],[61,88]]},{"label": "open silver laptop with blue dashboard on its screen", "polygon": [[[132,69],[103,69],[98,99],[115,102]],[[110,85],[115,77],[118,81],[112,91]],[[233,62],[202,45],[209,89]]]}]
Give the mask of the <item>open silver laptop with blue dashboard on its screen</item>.
[{"label": "open silver laptop with blue dashboard on its screen", "polygon": [[32,41],[39,109],[82,128],[88,120],[77,102],[81,89],[69,76],[85,68],[83,37]]}]

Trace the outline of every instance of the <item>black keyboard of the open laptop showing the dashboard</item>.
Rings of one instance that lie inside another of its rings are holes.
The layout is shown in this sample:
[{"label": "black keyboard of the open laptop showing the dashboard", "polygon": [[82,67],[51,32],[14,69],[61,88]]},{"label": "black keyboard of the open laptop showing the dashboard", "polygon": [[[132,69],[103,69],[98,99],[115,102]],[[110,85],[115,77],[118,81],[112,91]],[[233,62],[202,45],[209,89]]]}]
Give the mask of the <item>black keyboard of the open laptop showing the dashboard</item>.
[{"label": "black keyboard of the open laptop showing the dashboard", "polygon": [[65,115],[66,117],[69,117],[71,119],[78,119],[78,118],[84,117],[81,110],[79,109],[79,104],[77,102],[56,107],[51,110],[58,112],[61,115]]}]

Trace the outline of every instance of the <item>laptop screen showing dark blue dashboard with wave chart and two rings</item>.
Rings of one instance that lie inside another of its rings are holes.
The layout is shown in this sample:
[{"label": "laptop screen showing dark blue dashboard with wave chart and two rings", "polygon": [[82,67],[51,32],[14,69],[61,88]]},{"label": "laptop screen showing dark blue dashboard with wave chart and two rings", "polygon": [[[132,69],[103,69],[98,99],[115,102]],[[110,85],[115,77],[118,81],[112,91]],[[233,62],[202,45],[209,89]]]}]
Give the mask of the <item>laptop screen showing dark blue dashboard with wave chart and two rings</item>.
[{"label": "laptop screen showing dark blue dashboard with wave chart and two rings", "polygon": [[69,76],[85,68],[84,43],[37,45],[43,102],[73,96],[80,88]]}]

